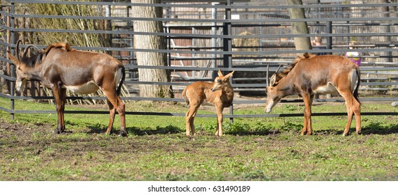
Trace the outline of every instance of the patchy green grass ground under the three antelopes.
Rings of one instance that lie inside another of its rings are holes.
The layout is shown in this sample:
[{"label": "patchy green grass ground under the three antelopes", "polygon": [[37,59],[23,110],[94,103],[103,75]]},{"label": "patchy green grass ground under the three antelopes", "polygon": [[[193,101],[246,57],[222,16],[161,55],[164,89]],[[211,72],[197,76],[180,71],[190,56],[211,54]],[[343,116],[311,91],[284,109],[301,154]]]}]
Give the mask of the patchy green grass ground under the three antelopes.
[{"label": "patchy green grass ground under the three antelopes", "polygon": [[[3,98],[0,103],[9,104]],[[54,109],[27,101],[15,106]],[[141,102],[126,108],[187,110]],[[344,103],[313,107],[313,112],[333,111],[344,112]],[[396,110],[365,102],[362,111]],[[213,112],[209,107],[199,114]],[[273,111],[302,112],[299,104],[278,104]],[[234,113],[263,114],[263,105],[236,107]],[[362,116],[363,133],[349,137],[342,136],[346,116],[313,117],[313,136],[299,135],[303,117],[226,120],[224,137],[213,136],[215,118],[196,118],[194,138],[185,137],[185,119],[176,116],[129,115],[128,137],[104,134],[107,115],[66,114],[66,134],[52,133],[55,114],[16,114],[14,121],[3,111],[0,116],[0,180],[398,180],[397,116]],[[119,127],[116,120],[114,128]]]}]

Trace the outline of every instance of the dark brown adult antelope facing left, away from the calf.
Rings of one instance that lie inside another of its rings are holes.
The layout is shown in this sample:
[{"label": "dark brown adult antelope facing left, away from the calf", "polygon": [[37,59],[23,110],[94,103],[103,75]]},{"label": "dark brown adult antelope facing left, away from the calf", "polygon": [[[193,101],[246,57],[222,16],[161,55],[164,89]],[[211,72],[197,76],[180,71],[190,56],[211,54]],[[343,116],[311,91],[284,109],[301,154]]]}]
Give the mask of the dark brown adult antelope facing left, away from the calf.
[{"label": "dark brown adult antelope facing left, away from the calf", "polygon": [[108,54],[72,49],[68,43],[54,43],[32,56],[26,56],[26,53],[29,47],[35,46],[27,45],[20,59],[19,44],[20,40],[17,42],[17,57],[8,52],[11,61],[17,66],[16,91],[21,91],[26,80],[42,81],[47,88],[52,89],[58,115],[54,133],[65,131],[63,113],[67,89],[75,93],[93,93],[100,88],[107,97],[110,113],[106,133],[111,133],[117,111],[121,118],[120,135],[127,135],[125,106],[119,97],[125,79],[125,68],[120,61]]}]

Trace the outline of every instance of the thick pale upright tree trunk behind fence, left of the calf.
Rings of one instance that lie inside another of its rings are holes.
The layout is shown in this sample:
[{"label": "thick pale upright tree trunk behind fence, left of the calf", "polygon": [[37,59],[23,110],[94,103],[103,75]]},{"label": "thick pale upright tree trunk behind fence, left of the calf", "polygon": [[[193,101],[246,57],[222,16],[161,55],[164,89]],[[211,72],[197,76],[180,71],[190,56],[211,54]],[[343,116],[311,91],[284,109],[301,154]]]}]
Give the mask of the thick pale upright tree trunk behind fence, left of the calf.
[{"label": "thick pale upright tree trunk behind fence, left of the calf", "polygon": [[[161,3],[160,0],[132,0],[132,3]],[[152,18],[162,18],[162,8],[153,6],[133,6],[133,17],[147,17],[149,20],[134,21],[135,32],[162,33],[161,21],[150,21]],[[166,49],[164,36],[134,36],[135,49]],[[136,52],[138,65],[167,65],[167,55],[161,52]],[[139,81],[168,82],[170,74],[167,70],[139,69]],[[171,86],[167,85],[140,85],[139,94],[147,98],[174,98]]]}]

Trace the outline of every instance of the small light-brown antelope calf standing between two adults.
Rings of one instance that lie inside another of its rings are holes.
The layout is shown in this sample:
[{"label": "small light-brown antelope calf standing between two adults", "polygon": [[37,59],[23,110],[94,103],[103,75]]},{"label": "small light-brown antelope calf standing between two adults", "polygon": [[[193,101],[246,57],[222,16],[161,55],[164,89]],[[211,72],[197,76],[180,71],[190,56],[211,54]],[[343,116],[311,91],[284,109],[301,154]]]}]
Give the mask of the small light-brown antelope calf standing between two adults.
[{"label": "small light-brown antelope calf standing between two adults", "polygon": [[222,72],[218,70],[218,77],[214,79],[213,83],[197,81],[190,84],[183,90],[183,97],[187,105],[190,104],[190,109],[185,114],[185,134],[187,136],[192,134],[195,136],[194,129],[194,117],[197,114],[197,110],[200,105],[206,100],[215,105],[217,111],[217,130],[215,130],[215,136],[222,136],[222,111],[224,107],[229,107],[234,100],[234,90],[229,83],[229,77],[234,74],[235,71],[228,75],[222,75]]}]

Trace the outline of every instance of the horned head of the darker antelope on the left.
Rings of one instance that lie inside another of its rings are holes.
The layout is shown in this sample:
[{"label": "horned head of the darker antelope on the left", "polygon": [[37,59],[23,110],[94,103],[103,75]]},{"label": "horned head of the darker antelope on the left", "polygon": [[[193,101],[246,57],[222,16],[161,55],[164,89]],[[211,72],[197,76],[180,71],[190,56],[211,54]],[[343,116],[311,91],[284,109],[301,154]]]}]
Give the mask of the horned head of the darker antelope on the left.
[{"label": "horned head of the darker antelope on the left", "polygon": [[24,63],[24,59],[26,59],[26,54],[29,50],[29,47],[36,47],[34,45],[27,45],[24,49],[24,53],[22,54],[22,59],[20,59],[20,42],[21,40],[17,41],[17,48],[15,49],[16,56],[11,55],[10,51],[7,52],[8,58],[10,58],[10,60],[13,61],[16,66],[15,72],[17,72],[17,81],[15,81],[15,91],[17,91],[17,93],[20,93],[20,91],[22,90],[22,86],[24,86],[26,81],[30,78],[29,71],[27,70],[28,67],[26,63]]}]

